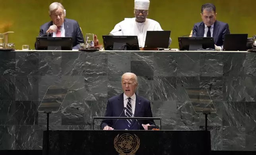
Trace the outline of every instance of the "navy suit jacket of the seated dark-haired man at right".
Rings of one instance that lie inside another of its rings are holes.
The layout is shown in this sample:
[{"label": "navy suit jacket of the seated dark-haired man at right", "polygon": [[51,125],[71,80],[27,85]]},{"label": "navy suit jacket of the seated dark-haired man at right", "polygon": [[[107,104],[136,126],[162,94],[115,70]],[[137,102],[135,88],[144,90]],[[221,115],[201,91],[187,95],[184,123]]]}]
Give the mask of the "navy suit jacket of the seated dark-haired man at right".
[{"label": "navy suit jacket of the seated dark-haired man at right", "polygon": [[[196,34],[193,34],[192,37],[204,37],[204,28],[204,22],[194,24],[193,33]],[[223,45],[225,34],[230,34],[229,25],[221,21],[215,21],[212,35],[215,45]]]}]

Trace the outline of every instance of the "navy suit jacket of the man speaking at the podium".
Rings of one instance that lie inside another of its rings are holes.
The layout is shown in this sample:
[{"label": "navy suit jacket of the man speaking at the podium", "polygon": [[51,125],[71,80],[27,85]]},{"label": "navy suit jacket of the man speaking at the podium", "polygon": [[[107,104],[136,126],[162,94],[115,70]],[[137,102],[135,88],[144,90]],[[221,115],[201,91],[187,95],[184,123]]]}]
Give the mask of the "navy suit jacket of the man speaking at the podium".
[{"label": "navy suit jacket of the man speaking at the podium", "polygon": [[[124,110],[124,93],[116,95],[108,100],[105,117],[126,117]],[[136,95],[134,117],[153,117],[149,100],[142,96]],[[128,127],[126,119],[105,119],[101,122],[101,129],[105,126],[115,130],[144,130],[142,124],[155,125],[153,120],[134,120],[131,127]]]}]

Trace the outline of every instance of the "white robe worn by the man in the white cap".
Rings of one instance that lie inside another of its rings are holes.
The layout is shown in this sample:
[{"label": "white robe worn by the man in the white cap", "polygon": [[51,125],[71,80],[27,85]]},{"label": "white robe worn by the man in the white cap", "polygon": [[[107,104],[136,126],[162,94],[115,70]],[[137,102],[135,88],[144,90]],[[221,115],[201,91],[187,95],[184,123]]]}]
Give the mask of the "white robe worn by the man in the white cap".
[{"label": "white robe worn by the man in the white cap", "polygon": [[[118,31],[121,30],[121,31]],[[118,31],[118,32],[116,32]],[[146,19],[144,23],[138,23],[135,18],[125,18],[114,26],[110,32],[114,36],[138,36],[140,47],[144,47],[147,31],[163,31],[160,24],[152,19]],[[171,38],[169,45],[171,43]]]}]

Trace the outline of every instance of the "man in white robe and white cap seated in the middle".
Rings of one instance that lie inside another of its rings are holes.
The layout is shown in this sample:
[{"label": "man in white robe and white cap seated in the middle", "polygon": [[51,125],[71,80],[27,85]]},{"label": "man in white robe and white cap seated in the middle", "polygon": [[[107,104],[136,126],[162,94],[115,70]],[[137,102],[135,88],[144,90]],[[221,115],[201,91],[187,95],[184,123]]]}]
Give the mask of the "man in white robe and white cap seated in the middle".
[{"label": "man in white robe and white cap seated in the middle", "polygon": [[[116,24],[110,34],[115,36],[138,36],[140,47],[144,47],[147,31],[162,31],[160,24],[152,19],[147,19],[149,0],[134,1],[135,18],[125,18]],[[169,45],[171,44],[171,38]]]}]

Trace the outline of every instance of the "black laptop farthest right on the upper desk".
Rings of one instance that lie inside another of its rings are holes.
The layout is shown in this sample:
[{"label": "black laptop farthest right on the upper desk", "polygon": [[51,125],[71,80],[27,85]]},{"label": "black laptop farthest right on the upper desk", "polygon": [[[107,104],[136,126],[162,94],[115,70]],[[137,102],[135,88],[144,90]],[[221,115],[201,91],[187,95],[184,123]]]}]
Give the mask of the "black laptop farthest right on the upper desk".
[{"label": "black laptop farthest right on the upper desk", "polygon": [[225,34],[223,51],[246,51],[248,34]]}]

